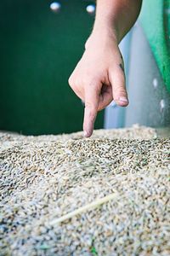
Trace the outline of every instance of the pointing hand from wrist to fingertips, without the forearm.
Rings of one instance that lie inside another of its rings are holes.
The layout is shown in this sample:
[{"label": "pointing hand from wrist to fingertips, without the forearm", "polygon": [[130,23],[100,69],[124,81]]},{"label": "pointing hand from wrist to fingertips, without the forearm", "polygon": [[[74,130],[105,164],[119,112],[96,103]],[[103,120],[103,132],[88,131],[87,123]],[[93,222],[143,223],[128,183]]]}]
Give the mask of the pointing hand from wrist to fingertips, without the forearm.
[{"label": "pointing hand from wrist to fingertips, without the forearm", "polygon": [[99,110],[113,99],[122,107],[127,106],[128,100],[123,60],[116,38],[94,32],[85,48],[69,84],[85,103],[83,131],[85,137],[90,137]]}]

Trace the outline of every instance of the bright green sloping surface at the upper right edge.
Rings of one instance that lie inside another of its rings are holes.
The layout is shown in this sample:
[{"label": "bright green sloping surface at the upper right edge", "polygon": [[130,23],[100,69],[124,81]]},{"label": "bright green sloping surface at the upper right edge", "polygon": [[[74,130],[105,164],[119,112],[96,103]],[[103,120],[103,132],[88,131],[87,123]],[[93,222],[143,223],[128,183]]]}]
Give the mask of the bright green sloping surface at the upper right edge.
[{"label": "bright green sloping surface at the upper right edge", "polygon": [[170,0],[143,0],[139,19],[170,92]]}]

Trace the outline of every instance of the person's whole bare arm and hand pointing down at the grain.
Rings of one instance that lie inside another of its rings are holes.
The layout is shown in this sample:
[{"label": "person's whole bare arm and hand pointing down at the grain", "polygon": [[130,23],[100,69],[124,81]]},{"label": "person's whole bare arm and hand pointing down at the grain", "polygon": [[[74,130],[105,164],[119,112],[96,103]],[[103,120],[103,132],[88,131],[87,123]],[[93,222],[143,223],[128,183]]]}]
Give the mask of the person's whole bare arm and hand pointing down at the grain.
[{"label": "person's whole bare arm and hand pointing down at the grain", "polygon": [[[99,0],[97,3],[94,30],[69,79],[71,89],[85,103],[85,137],[92,135],[98,111],[108,106],[112,100],[122,107],[128,104],[123,59],[118,44],[133,26],[141,6],[140,0]],[[130,11],[131,6],[132,15],[124,15],[124,20],[120,20],[119,15]]]}]

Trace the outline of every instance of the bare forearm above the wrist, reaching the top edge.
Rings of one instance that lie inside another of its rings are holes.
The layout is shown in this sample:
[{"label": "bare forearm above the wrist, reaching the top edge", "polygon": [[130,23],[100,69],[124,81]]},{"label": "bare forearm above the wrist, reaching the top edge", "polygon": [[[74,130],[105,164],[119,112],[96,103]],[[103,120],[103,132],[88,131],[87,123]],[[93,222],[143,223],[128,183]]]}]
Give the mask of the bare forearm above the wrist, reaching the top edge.
[{"label": "bare forearm above the wrist, reaching the top edge", "polygon": [[93,32],[114,35],[118,43],[137,20],[142,0],[97,0]]}]

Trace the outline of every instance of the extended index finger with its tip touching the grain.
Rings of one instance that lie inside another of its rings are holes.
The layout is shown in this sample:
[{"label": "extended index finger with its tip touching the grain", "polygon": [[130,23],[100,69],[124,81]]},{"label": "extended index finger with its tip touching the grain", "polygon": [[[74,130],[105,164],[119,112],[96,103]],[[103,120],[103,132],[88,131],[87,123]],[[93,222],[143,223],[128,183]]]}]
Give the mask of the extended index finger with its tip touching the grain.
[{"label": "extended index finger with its tip touching the grain", "polygon": [[85,137],[90,137],[94,131],[94,122],[98,112],[99,105],[99,85],[94,84],[85,91],[85,108],[83,131]]}]

